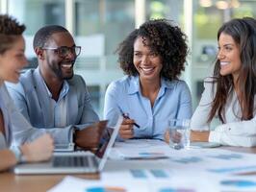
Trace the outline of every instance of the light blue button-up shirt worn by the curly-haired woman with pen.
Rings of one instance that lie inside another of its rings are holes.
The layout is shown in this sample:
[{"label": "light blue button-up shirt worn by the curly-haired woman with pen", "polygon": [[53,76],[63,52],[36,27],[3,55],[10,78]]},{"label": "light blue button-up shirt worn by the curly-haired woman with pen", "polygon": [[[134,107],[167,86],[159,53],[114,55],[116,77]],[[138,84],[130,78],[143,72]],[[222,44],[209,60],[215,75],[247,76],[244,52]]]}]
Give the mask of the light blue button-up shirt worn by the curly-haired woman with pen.
[{"label": "light blue button-up shirt worn by the curly-haired woman with pen", "polygon": [[164,139],[168,119],[192,116],[192,97],[184,81],[161,80],[161,88],[151,108],[150,100],[141,95],[139,76],[125,76],[109,85],[105,95],[104,118],[115,125],[116,118],[129,113],[141,126],[134,126],[134,136]]}]

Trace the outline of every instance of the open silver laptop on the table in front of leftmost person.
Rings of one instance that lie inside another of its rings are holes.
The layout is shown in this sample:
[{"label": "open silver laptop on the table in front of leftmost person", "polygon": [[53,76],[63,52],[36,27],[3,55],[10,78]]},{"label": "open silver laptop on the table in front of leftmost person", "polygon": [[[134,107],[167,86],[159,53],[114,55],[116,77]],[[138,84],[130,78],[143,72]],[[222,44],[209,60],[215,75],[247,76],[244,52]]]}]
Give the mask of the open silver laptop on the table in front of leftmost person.
[{"label": "open silver laptop on the table in front of leftmost person", "polygon": [[122,117],[120,116],[114,128],[107,128],[105,130],[95,155],[84,151],[55,153],[47,162],[18,164],[13,168],[13,172],[17,175],[100,172],[106,164],[121,123]]}]

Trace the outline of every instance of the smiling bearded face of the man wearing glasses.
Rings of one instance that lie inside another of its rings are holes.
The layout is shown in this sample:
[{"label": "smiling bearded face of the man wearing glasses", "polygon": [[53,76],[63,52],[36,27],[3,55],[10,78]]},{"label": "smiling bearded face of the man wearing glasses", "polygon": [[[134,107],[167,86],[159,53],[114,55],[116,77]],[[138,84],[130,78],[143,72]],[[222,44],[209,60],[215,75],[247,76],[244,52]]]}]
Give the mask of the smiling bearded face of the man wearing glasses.
[{"label": "smiling bearded face of the man wearing glasses", "polygon": [[[75,45],[73,37],[66,32],[53,34],[46,42],[45,48],[73,47]],[[73,77],[73,65],[76,55],[72,52],[66,57],[61,57],[57,50],[43,50],[45,60],[42,70],[47,76],[58,78],[63,81]]]}]

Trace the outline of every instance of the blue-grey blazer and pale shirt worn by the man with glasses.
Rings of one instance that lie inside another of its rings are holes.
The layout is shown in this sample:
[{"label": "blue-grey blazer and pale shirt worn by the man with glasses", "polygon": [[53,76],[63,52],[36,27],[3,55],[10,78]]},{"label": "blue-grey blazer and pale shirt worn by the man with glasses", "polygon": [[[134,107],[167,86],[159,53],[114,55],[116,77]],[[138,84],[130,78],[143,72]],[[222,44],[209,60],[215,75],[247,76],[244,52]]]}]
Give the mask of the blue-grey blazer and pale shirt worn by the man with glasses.
[{"label": "blue-grey blazer and pale shirt worn by the man with glasses", "polygon": [[[18,84],[7,84],[7,87],[24,117],[35,128],[50,132],[56,143],[72,142],[73,127],[84,129],[99,120],[81,76],[74,75],[64,81],[58,101],[52,99],[38,68],[26,71]],[[64,139],[64,132],[69,132],[68,139]]]}]

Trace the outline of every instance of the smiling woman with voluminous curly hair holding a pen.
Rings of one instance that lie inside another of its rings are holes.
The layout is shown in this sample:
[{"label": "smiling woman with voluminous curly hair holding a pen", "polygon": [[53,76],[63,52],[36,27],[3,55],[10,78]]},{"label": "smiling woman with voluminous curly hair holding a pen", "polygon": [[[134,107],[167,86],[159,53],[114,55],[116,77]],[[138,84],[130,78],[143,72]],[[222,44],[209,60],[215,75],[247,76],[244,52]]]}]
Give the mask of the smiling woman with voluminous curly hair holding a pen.
[{"label": "smiling woman with voluminous curly hair holding a pen", "polygon": [[118,115],[126,117],[120,138],[164,139],[168,119],[191,118],[191,92],[179,80],[188,55],[186,36],[179,27],[166,19],[147,21],[116,52],[127,76],[109,85],[104,118],[113,126]]}]

